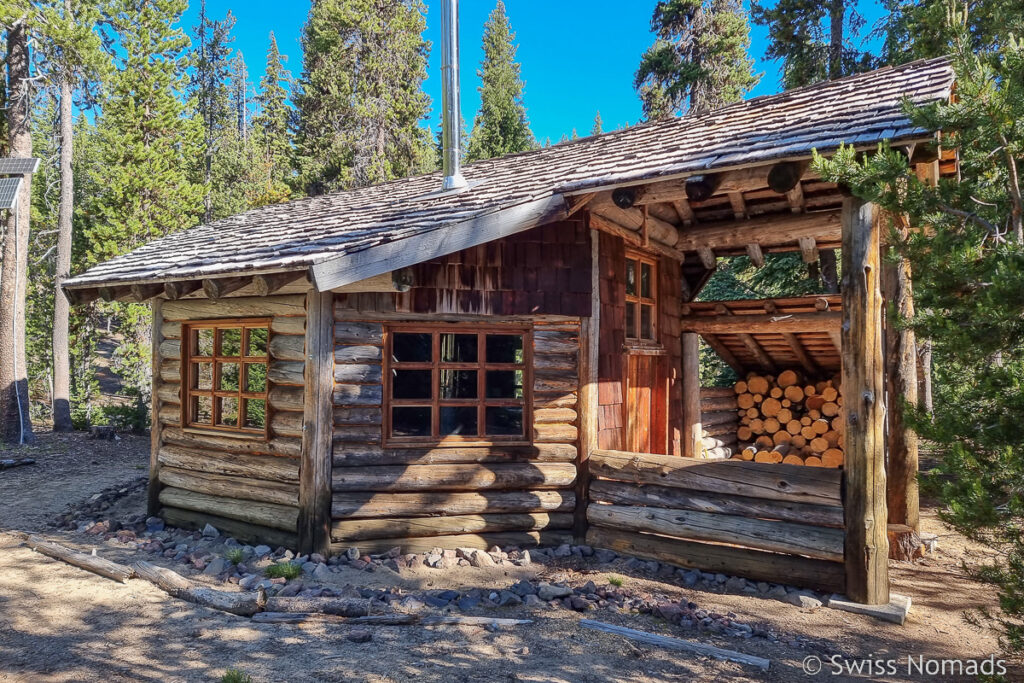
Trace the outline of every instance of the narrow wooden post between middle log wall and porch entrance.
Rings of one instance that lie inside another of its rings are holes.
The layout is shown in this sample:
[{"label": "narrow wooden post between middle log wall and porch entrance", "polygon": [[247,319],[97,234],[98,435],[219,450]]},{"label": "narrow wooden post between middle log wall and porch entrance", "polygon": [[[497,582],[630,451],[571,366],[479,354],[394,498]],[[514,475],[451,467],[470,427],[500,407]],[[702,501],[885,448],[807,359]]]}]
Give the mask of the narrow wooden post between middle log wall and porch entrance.
[{"label": "narrow wooden post between middle log wall and porch entrance", "polygon": [[580,322],[580,452],[577,457],[577,507],[573,536],[586,543],[587,506],[590,503],[590,454],[597,450],[598,353],[601,339],[601,265],[598,259],[600,234],[588,230],[590,238],[590,317]]}]

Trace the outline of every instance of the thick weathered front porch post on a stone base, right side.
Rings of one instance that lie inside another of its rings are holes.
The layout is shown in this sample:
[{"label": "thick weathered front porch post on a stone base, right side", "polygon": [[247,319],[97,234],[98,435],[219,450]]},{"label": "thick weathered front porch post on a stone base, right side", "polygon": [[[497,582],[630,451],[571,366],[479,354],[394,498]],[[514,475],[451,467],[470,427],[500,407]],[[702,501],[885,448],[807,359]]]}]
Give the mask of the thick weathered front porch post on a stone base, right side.
[{"label": "thick weathered front porch post on a stone base, right side", "polygon": [[880,232],[873,204],[852,197],[844,200],[841,334],[846,592],[852,600],[872,605],[889,602]]}]

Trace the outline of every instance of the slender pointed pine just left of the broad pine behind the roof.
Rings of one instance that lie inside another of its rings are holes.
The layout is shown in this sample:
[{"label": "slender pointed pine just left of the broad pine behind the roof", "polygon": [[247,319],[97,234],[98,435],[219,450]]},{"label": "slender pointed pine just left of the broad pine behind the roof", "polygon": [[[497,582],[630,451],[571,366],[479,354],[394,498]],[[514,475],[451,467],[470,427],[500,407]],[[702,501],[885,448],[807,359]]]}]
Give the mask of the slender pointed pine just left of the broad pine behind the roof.
[{"label": "slender pointed pine just left of the broad pine behind the roof", "polygon": [[271,32],[270,46],[266,50],[266,71],[256,98],[259,114],[253,120],[261,169],[259,205],[286,201],[291,191],[288,185],[292,147],[289,131],[294,112],[288,104],[292,75],[285,68],[287,59],[278,49],[278,41]]}]

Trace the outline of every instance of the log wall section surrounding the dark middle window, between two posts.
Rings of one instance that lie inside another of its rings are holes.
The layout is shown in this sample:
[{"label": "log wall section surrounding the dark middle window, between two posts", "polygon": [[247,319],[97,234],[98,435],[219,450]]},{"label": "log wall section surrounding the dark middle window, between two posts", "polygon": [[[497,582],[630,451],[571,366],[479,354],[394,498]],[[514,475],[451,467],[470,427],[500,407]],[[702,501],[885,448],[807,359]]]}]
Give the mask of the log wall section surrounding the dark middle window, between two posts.
[{"label": "log wall section surrounding the dark middle window, between two posts", "polygon": [[359,317],[349,304],[339,297],[335,305],[332,550],[567,542],[577,500],[579,321],[532,323],[531,443],[386,447],[385,323]]}]

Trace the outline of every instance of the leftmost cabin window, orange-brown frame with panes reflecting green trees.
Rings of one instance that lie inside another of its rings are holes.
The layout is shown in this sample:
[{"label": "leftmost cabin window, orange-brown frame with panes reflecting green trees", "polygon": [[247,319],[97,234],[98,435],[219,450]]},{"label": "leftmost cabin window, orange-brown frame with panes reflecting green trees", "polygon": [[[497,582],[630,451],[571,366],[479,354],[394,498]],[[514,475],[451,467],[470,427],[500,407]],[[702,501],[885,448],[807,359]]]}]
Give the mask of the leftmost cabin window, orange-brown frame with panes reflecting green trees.
[{"label": "leftmost cabin window, orange-brown frame with panes reflecting green trees", "polygon": [[183,424],[266,436],[269,321],[188,323]]}]

